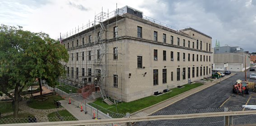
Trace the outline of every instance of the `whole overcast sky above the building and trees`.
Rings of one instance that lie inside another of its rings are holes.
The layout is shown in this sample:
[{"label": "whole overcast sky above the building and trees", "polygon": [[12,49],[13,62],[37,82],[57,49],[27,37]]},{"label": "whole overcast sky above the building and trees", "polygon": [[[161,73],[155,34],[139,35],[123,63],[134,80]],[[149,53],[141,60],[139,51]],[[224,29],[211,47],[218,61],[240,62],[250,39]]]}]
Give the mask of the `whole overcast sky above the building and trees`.
[{"label": "whole overcast sky above the building and trees", "polygon": [[57,39],[102,11],[128,5],[176,28],[212,36],[212,45],[256,52],[256,0],[1,0],[0,23],[46,32]]}]

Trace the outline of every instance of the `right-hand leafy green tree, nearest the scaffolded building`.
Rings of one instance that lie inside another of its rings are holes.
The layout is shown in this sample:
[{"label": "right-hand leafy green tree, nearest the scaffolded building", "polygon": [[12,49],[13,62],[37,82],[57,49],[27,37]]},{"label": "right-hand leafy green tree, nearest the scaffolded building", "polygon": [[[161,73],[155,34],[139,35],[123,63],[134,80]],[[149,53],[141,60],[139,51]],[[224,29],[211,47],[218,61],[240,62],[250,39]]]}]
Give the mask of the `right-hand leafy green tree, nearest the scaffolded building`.
[{"label": "right-hand leafy green tree, nearest the scaffolded building", "polygon": [[53,40],[45,33],[38,33],[42,40],[33,43],[28,49],[28,54],[33,58],[34,69],[32,76],[38,78],[40,96],[42,98],[41,80],[45,80],[48,85],[54,87],[59,76],[65,73],[65,68],[61,62],[68,62],[68,53],[59,41]]}]

